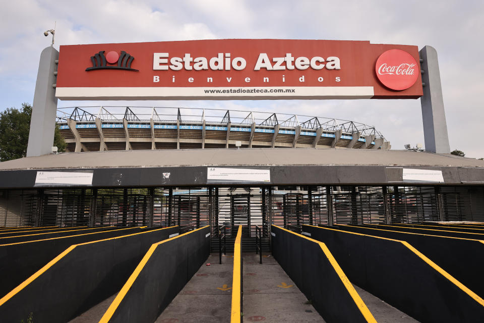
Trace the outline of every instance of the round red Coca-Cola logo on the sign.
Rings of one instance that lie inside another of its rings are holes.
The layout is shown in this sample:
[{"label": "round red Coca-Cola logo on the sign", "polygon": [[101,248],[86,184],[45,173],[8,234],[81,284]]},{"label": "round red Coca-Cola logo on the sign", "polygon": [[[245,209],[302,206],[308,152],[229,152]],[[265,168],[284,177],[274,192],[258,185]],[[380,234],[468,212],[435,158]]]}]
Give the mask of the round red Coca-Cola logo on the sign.
[{"label": "round red Coca-Cola logo on the sign", "polygon": [[412,86],[418,78],[418,65],[406,51],[390,49],[385,51],[375,65],[377,77],[389,89],[401,91]]}]

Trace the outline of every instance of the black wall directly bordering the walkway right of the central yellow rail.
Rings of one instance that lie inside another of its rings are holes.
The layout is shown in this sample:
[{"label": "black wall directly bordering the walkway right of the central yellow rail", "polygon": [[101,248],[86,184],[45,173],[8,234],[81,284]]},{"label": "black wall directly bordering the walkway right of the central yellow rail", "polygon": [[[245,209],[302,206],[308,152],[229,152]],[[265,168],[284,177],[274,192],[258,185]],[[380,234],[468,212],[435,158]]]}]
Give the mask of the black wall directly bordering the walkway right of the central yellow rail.
[{"label": "black wall directly bordering the walkway right of the central yellow rail", "polygon": [[366,322],[319,243],[272,226],[272,254],[327,322]]}]

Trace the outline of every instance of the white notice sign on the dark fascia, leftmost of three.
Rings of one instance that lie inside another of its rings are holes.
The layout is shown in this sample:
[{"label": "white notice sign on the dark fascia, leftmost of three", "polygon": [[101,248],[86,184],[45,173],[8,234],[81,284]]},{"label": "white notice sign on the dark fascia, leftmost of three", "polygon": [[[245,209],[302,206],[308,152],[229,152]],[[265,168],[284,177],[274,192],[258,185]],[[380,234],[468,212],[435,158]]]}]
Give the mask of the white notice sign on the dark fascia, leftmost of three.
[{"label": "white notice sign on the dark fascia, leftmost of three", "polygon": [[92,185],[93,172],[37,172],[34,186]]}]

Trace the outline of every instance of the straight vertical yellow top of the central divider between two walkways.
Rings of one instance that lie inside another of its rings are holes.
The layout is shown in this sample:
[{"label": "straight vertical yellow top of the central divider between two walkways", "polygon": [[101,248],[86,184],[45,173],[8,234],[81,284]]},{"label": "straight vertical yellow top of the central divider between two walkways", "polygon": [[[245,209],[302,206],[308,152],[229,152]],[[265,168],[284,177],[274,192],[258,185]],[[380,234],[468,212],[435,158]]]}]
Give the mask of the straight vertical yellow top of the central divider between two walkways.
[{"label": "straight vertical yellow top of the central divider between two walkways", "polygon": [[242,268],[242,226],[238,226],[237,236],[233,245],[233,274],[232,274],[232,305],[230,309],[230,323],[240,323],[241,308],[240,308],[240,270]]}]

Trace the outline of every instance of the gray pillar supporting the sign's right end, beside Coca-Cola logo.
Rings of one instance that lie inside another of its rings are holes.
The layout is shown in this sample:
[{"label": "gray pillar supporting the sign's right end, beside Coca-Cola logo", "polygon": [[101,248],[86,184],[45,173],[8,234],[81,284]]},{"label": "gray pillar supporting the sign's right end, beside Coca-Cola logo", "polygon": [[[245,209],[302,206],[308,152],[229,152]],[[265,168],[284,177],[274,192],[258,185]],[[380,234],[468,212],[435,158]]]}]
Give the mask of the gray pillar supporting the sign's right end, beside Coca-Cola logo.
[{"label": "gray pillar supporting the sign's right end, beside Coca-Cola logo", "polygon": [[425,46],[420,50],[420,59],[423,60],[422,83],[425,84],[420,98],[425,150],[450,153],[437,51],[432,46]]}]

